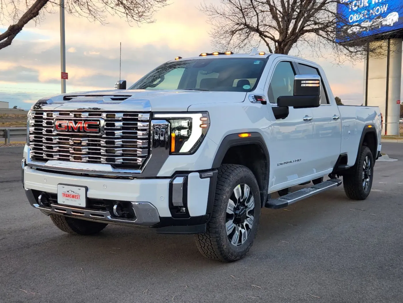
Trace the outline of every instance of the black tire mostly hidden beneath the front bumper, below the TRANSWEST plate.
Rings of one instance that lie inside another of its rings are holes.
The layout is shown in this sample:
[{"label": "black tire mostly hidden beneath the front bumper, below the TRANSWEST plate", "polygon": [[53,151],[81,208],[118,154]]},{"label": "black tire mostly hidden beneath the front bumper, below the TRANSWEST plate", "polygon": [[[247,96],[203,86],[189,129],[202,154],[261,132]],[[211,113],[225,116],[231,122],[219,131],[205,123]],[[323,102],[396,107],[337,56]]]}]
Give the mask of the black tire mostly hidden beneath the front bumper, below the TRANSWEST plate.
[{"label": "black tire mostly hidden beneath the front bumper, below the TRANSWEST plate", "polygon": [[60,230],[68,232],[69,234],[79,234],[82,236],[98,234],[98,232],[108,225],[106,223],[75,219],[54,214],[50,215],[50,219],[52,219],[53,224]]}]

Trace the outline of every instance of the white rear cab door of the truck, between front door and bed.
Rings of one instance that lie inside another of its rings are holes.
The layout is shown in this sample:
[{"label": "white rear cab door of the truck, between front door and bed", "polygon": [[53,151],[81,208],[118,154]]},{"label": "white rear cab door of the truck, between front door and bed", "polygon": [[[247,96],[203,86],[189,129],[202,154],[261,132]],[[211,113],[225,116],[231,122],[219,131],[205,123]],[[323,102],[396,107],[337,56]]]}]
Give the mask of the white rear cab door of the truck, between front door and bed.
[{"label": "white rear cab door of the truck, between front door and bed", "polygon": [[[314,66],[297,63],[300,75],[319,75],[320,71]],[[330,100],[332,94],[324,85],[322,78],[322,91],[320,94],[320,106],[312,108],[314,117],[314,138],[312,143],[316,150],[316,160],[313,168],[316,172],[332,169],[340,155],[341,146],[341,117],[336,102]],[[330,90],[330,88],[329,88]]]}]

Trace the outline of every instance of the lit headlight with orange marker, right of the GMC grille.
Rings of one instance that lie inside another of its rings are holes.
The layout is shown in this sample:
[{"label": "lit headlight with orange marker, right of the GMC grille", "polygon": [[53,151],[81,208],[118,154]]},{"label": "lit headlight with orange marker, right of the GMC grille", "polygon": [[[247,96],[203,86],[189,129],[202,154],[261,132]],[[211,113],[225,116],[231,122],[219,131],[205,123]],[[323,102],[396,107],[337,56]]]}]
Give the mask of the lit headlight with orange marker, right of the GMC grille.
[{"label": "lit headlight with orange marker, right of the GMC grille", "polygon": [[154,114],[170,123],[170,154],[189,155],[195,153],[210,126],[207,112]]}]

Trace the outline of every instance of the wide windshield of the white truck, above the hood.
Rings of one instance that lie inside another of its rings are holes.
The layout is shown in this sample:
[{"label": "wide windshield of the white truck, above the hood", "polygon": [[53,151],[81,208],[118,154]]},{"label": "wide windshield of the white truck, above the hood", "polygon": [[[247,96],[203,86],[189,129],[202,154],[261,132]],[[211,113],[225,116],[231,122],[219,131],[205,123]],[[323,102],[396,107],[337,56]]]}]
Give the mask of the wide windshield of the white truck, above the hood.
[{"label": "wide windshield of the white truck, above the hood", "polygon": [[250,92],[267,59],[212,58],[165,63],[137,81],[130,90],[207,90]]}]

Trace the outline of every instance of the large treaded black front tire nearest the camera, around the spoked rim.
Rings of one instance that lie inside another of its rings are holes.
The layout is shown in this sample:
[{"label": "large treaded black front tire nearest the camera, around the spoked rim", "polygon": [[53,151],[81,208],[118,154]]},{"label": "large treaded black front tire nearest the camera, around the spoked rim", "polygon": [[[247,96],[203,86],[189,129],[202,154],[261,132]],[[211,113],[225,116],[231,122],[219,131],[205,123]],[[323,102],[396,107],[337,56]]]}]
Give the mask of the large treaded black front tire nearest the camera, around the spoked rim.
[{"label": "large treaded black front tire nearest the camera, around the spoked rim", "polygon": [[[245,197],[247,187],[249,187],[249,194]],[[242,197],[241,199],[237,199],[235,195],[237,188],[239,188],[237,195]],[[252,198],[254,200],[253,209],[251,207]],[[237,202],[231,204],[230,199],[237,200]],[[233,210],[231,210],[230,204],[231,207],[232,205],[234,206]],[[242,210],[242,207],[244,210]],[[260,209],[259,186],[252,171],[242,165],[221,165],[218,169],[214,206],[212,216],[207,224],[207,230],[203,234],[195,235],[196,245],[200,253],[208,259],[223,262],[232,262],[244,257],[256,237]],[[242,216],[240,215],[241,213],[243,213]],[[237,214],[239,215],[238,217]],[[243,223],[239,223],[238,221]],[[231,226],[231,222],[233,226]],[[252,222],[251,226],[250,222]],[[239,229],[239,226],[242,229]],[[227,227],[229,230],[228,234]],[[238,238],[235,234],[238,234]],[[243,239],[243,235],[246,235],[246,239]],[[232,244],[231,242],[236,244]]]}]

